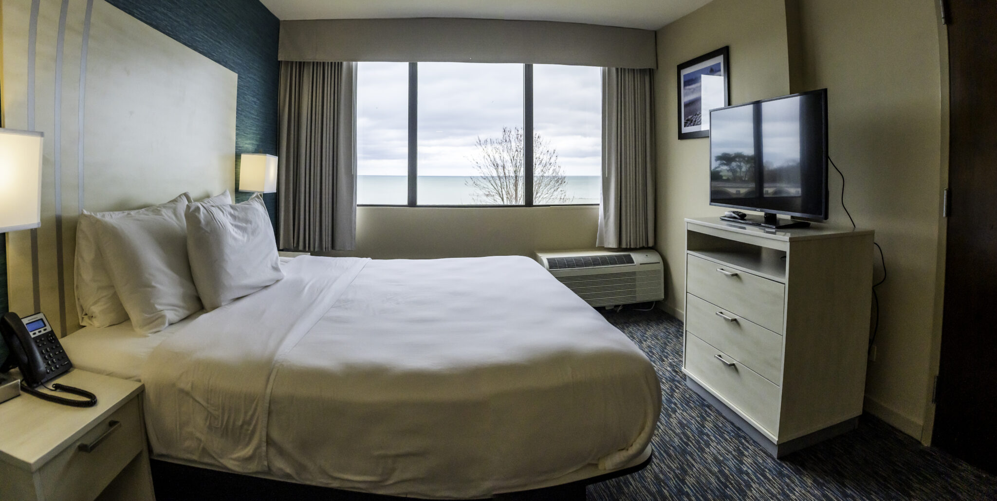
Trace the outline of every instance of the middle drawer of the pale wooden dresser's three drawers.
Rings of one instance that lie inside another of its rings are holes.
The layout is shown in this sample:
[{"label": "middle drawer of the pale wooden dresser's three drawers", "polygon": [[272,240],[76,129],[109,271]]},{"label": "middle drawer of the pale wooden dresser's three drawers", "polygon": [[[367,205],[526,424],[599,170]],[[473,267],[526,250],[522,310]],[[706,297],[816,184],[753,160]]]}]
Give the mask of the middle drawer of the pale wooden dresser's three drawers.
[{"label": "middle drawer of the pale wooden dresser's three drawers", "polygon": [[686,294],[686,330],[782,384],[782,336],[692,294]]}]

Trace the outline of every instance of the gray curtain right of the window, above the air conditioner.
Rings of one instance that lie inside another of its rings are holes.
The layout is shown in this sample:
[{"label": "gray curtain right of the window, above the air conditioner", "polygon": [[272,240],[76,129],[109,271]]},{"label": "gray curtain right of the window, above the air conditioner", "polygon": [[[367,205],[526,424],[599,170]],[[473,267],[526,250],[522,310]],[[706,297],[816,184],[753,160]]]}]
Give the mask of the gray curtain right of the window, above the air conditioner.
[{"label": "gray curtain right of the window, above the air conditioner", "polygon": [[602,69],[602,200],[599,247],[654,245],[652,70]]}]

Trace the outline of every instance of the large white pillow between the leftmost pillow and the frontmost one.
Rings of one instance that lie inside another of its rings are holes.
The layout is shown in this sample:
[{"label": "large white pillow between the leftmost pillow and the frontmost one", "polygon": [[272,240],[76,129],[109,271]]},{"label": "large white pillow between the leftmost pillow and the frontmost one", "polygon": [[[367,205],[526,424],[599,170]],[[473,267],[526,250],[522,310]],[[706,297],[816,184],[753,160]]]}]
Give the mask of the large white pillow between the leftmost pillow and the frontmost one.
[{"label": "large white pillow between the leftmost pillow and the frontmost one", "polygon": [[95,221],[111,282],[140,333],[162,331],[201,308],[186,255],[187,198],[173,202]]}]

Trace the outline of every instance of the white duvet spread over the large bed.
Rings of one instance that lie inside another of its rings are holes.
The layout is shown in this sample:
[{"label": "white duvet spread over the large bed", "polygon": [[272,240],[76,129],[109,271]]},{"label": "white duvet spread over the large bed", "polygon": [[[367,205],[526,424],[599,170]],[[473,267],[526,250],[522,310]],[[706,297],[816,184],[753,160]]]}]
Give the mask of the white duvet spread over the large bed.
[{"label": "white duvet spread over the large bed", "polygon": [[299,482],[490,497],[645,452],[647,358],[523,257],[301,256],[142,369],[153,452]]}]

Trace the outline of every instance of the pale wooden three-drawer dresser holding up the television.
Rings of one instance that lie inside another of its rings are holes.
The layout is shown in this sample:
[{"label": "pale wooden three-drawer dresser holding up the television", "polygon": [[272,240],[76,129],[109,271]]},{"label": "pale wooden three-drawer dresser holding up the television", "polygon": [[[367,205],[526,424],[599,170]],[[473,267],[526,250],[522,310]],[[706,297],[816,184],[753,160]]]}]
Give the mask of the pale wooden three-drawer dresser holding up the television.
[{"label": "pale wooden three-drawer dresser holding up the television", "polygon": [[872,231],[686,219],[683,372],[777,457],[862,412]]}]

